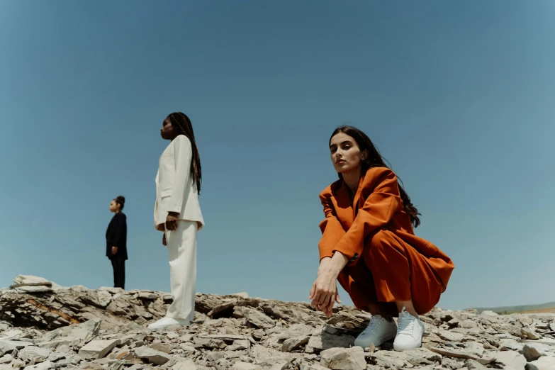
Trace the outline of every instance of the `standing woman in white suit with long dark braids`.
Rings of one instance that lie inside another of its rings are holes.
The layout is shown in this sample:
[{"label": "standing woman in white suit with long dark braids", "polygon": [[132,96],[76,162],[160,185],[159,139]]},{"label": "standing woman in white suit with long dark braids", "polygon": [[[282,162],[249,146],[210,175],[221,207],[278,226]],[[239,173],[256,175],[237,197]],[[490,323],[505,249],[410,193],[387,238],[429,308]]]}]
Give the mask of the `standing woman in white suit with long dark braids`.
[{"label": "standing woman in white suit with long dark braids", "polygon": [[184,113],[172,113],[162,123],[160,135],[170,142],[159,159],[154,217],[156,230],[164,232],[162,244],[169,251],[174,301],[164,318],[148,326],[150,330],[186,326],[194,319],[196,232],[204,225],[198,204],[201,159],[191,120]]}]

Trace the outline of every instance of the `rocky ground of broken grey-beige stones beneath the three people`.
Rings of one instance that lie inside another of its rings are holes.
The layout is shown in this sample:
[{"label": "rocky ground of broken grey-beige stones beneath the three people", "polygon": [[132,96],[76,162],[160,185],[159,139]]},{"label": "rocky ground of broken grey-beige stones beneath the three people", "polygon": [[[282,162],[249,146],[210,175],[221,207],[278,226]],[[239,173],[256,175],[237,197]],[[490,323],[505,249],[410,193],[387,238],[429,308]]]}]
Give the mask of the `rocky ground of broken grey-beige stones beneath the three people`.
[{"label": "rocky ground of broken grey-beige stones beneath the three people", "polygon": [[555,369],[552,313],[437,308],[422,348],[395,352],[352,347],[369,315],[348,306],[327,320],[308,303],[198,293],[192,325],[150,332],[168,293],[14,283],[0,291],[0,370]]}]

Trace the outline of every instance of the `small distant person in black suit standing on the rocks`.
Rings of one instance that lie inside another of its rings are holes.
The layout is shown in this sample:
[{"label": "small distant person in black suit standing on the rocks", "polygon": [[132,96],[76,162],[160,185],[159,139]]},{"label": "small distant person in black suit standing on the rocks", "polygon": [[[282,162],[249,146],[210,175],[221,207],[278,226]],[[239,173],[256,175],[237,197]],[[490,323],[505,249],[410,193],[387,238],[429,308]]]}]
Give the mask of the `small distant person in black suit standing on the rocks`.
[{"label": "small distant person in black suit standing on the rocks", "polygon": [[113,286],[125,289],[125,259],[127,259],[127,220],[122,212],[125,197],[118,196],[110,203],[113,215],[106,230],[106,257],[112,262]]}]

